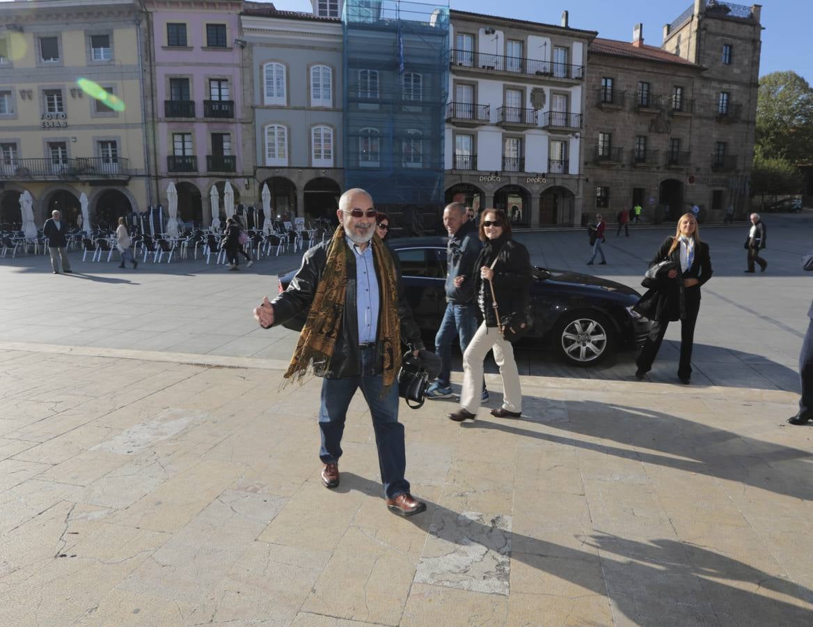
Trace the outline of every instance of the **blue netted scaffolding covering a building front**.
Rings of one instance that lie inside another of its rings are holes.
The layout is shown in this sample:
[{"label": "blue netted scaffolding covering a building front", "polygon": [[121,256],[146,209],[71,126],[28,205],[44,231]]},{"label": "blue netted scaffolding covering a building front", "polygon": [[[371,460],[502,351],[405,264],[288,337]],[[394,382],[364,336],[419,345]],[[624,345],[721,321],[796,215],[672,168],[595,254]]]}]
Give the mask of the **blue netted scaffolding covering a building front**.
[{"label": "blue netted scaffolding covering a building front", "polygon": [[348,188],[376,207],[443,202],[449,7],[348,0],[344,9],[344,156]]}]

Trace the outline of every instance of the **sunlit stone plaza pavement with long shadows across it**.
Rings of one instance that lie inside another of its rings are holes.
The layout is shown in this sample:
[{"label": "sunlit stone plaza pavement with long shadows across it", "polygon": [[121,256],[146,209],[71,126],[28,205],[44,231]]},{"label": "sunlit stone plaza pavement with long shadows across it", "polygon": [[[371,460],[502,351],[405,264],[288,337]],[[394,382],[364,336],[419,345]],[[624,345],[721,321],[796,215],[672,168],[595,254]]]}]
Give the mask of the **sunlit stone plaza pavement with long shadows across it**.
[{"label": "sunlit stone plaza pavement with long shadows across it", "polygon": [[[766,220],[763,275],[744,224],[702,230],[692,385],[670,329],[643,382],[630,353],[521,349],[520,420],[402,407],[411,519],[381,499],[361,398],[320,484],[319,381],[280,387],[296,336],[250,316],[297,255],[0,259],[0,625],[810,624],[813,429],[785,419],[813,216]],[[593,272],[638,285],[668,232],[610,233]],[[585,233],[518,237],[588,269]]]}]

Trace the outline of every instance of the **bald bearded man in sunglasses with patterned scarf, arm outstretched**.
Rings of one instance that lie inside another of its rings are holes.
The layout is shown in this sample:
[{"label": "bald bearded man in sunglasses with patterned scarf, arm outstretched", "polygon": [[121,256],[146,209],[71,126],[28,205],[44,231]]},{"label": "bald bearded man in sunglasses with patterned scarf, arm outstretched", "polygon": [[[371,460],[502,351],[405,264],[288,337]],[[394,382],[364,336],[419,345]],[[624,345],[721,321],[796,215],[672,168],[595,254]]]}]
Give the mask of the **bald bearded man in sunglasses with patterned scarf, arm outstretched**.
[{"label": "bald bearded man in sunglasses with patterned scarf, arm outstretched", "polygon": [[402,341],[414,355],[424,348],[403,298],[398,259],[376,235],[376,210],[363,189],[339,198],[339,226],[328,242],[307,250],[288,289],[254,309],[263,329],[307,311],[285,379],[308,372],[322,381],[319,427],[322,483],[339,485],[341,436],[347,408],[361,388],[372,416],[381,481],[390,512],[412,516],[426,504],[406,481],[404,428],[398,422]]}]

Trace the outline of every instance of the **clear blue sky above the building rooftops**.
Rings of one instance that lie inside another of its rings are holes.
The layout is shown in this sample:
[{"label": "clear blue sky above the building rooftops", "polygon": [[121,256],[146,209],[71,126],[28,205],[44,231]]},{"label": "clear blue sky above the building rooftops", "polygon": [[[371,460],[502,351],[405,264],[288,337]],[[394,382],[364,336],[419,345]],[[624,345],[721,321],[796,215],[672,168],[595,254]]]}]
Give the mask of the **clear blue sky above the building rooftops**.
[{"label": "clear blue sky above the building rooftops", "polygon": [[[559,24],[562,11],[568,11],[572,28],[597,30],[599,37],[621,41],[632,41],[633,26],[641,22],[644,24],[644,41],[652,46],[660,46],[663,42],[663,24],[674,20],[692,3],[693,0],[450,0],[450,7],[546,24]],[[810,34],[813,2],[763,0],[761,4],[764,30],[759,76],[777,70],[793,70],[807,82],[813,83],[813,37]],[[274,6],[287,11],[311,11],[308,0],[274,0]]]}]

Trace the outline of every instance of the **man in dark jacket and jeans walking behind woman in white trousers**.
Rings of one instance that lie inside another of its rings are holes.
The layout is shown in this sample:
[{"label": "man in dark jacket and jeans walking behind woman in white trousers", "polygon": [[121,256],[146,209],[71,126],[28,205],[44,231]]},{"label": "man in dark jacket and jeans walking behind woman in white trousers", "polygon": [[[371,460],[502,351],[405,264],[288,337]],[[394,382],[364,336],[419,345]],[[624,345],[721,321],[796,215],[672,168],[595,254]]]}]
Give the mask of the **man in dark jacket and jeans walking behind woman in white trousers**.
[{"label": "man in dark jacket and jeans walking behind woman in white trousers", "polygon": [[[483,247],[477,226],[467,220],[463,202],[451,202],[443,210],[443,225],[449,233],[446,245],[446,312],[435,336],[435,353],[441,358],[441,373],[426,390],[426,398],[452,396],[452,342],[459,337],[460,351],[466,352],[477,330],[477,307],[474,302],[474,263]],[[489,392],[483,385],[483,398]]]}]

